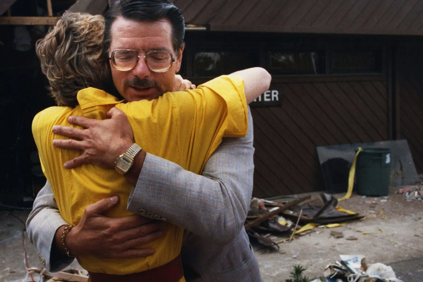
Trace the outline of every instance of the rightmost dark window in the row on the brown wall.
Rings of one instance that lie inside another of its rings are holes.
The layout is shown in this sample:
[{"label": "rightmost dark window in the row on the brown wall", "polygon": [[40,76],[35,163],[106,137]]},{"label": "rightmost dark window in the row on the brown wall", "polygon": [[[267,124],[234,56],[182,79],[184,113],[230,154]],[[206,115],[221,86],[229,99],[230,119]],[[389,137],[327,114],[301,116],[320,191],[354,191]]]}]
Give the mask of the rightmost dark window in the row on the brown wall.
[{"label": "rightmost dark window in the row on the brown wall", "polygon": [[331,74],[366,74],[382,72],[382,52],[334,51]]}]

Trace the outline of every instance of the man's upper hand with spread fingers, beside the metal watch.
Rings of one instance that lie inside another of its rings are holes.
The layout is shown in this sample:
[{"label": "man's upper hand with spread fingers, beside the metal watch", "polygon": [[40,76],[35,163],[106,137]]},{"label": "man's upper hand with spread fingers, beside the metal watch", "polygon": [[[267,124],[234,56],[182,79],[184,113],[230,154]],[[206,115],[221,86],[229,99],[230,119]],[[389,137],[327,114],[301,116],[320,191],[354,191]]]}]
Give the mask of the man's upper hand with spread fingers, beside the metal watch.
[{"label": "man's upper hand with spread fingers, beside the metal watch", "polygon": [[95,120],[79,116],[70,116],[69,122],[82,126],[77,129],[69,126],[54,126],[53,132],[72,139],[55,139],[53,145],[58,148],[82,150],[82,155],[64,164],[66,168],[82,164],[95,164],[103,168],[114,168],[118,156],[126,152],[134,143],[132,128],[124,112],[112,108],[107,112],[110,119]]}]

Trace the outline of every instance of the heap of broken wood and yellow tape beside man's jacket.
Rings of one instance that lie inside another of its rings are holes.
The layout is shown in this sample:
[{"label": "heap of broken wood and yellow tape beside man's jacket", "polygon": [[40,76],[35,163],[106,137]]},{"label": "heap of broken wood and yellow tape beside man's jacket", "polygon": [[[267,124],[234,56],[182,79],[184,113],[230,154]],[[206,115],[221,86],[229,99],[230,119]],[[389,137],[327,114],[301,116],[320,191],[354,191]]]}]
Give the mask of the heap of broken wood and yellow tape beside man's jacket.
[{"label": "heap of broken wood and yellow tape beside man's jacket", "polygon": [[[310,234],[316,227],[339,227],[364,217],[337,205],[338,200],[325,193],[320,198],[305,196],[285,204],[253,198],[244,227],[250,239],[264,246],[277,246],[294,240],[295,235]],[[283,239],[275,242],[271,234]]]}]

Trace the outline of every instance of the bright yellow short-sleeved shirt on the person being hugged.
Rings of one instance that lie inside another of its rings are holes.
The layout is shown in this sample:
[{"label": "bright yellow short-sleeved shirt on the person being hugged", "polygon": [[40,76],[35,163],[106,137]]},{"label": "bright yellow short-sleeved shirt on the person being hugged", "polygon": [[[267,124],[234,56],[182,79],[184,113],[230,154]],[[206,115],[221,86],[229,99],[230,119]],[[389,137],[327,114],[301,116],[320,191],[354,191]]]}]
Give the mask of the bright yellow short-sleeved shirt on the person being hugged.
[{"label": "bright yellow short-sleeved shirt on the person being hugged", "polygon": [[[186,170],[200,174],[222,137],[244,137],[247,134],[247,104],[244,82],[236,75],[222,76],[200,85],[195,90],[165,93],[152,101],[123,103],[95,88],[78,92],[79,106],[50,107],[39,112],[32,125],[41,165],[60,214],[69,224],[77,224],[87,205],[118,195],[117,207],[106,215],[129,216],[126,203],[131,184],[113,169],[84,164],[65,169],[63,163],[80,153],[61,150],[52,141],[63,138],[52,133],[54,125],[72,126],[70,115],[105,119],[106,112],[117,107],[126,113],[135,142],[143,150],[175,162]],[[183,229],[167,223],[165,236],[147,244],[155,253],[134,259],[77,257],[80,265],[91,272],[130,274],[155,268],[179,255]]]}]

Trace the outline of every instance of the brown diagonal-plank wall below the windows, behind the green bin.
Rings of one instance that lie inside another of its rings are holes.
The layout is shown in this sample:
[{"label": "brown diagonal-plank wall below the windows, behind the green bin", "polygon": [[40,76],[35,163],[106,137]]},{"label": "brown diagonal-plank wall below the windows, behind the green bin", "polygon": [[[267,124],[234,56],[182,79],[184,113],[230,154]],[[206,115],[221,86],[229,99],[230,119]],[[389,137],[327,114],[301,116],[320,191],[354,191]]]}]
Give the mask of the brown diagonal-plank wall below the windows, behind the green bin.
[{"label": "brown diagonal-plank wall below the windows, behind the green bin", "polygon": [[282,107],[251,110],[255,197],[323,190],[316,146],[388,139],[386,80],[294,79],[273,79]]}]

